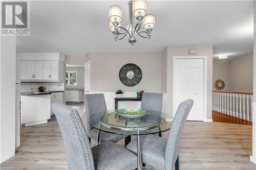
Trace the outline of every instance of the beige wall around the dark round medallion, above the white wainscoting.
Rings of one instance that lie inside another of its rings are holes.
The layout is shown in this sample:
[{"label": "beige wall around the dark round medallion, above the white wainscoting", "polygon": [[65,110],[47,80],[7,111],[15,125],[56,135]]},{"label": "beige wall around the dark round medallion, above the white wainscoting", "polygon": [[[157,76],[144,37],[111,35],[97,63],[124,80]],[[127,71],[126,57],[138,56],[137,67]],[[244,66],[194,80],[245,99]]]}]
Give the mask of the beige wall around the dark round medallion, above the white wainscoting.
[{"label": "beige wall around the dark round medallion, above the white wainscoting", "polygon": [[[161,92],[161,53],[90,53],[90,91]],[[119,70],[134,63],[142,70],[142,80],[127,87],[119,80]]]}]

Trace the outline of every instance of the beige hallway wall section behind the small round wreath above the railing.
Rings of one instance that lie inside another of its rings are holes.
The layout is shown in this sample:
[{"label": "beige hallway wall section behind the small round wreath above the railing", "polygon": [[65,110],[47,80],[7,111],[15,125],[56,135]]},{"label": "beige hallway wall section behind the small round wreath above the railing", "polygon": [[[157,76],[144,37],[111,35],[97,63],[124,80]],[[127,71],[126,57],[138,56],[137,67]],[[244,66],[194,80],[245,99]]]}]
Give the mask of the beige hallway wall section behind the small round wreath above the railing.
[{"label": "beige hallway wall section behind the small round wreath above the railing", "polygon": [[229,91],[229,60],[213,60],[212,62],[212,90],[216,80],[221,79],[225,83],[225,87],[221,91]]}]

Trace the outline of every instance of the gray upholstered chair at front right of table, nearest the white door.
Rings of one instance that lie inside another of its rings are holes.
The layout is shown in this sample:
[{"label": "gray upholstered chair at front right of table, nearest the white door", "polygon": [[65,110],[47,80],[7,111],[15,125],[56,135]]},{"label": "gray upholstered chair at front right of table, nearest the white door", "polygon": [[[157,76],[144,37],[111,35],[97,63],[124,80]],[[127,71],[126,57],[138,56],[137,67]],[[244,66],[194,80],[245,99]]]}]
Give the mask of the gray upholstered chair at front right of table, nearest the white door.
[{"label": "gray upholstered chair at front right of table, nearest the white door", "polygon": [[[174,116],[172,127],[167,139],[156,135],[141,136],[142,162],[165,170],[179,169],[180,141],[183,128],[194,101],[189,99],[182,102]],[[137,139],[127,146],[127,149],[137,154]]]}]

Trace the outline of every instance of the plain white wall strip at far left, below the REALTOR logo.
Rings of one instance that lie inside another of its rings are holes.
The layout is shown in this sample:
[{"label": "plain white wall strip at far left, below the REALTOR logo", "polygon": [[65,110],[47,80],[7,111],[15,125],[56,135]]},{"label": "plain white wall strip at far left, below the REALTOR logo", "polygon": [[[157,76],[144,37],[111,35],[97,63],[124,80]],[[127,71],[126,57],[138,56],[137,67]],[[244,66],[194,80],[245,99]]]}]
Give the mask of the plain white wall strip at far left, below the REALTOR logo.
[{"label": "plain white wall strip at far left, below the REALTOR logo", "polygon": [[16,37],[1,36],[0,162],[15,154]]}]

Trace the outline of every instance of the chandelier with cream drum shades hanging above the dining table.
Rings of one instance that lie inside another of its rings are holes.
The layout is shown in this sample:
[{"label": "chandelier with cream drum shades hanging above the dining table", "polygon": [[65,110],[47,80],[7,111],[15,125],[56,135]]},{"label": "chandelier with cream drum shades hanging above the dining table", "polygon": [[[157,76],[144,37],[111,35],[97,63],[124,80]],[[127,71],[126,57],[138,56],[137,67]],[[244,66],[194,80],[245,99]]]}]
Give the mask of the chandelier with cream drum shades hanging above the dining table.
[{"label": "chandelier with cream drum shades hanging above the dining table", "polygon": [[[126,28],[121,27],[122,9],[116,5],[109,8],[109,28],[115,35],[115,41],[121,40],[127,35],[129,36],[128,41],[132,43],[133,46],[137,41],[137,35],[142,38],[151,38],[151,32],[155,27],[156,19],[155,15],[147,14],[145,0],[131,0],[128,5],[129,24],[126,25]],[[137,19],[137,23],[135,23],[135,18]],[[145,30],[141,30],[142,24]]]}]

